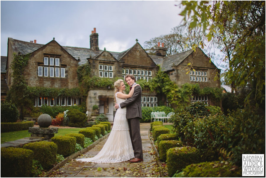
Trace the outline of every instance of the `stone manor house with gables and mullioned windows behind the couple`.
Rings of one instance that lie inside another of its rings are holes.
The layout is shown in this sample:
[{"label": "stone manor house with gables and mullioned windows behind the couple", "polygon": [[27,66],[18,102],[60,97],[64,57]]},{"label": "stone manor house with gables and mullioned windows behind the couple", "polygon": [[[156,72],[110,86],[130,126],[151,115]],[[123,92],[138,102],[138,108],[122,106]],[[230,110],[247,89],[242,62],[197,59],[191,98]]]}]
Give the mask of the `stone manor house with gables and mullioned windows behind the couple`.
[{"label": "stone manor house with gables and mullioned windows behind the couple", "polygon": [[[11,73],[10,65],[13,60],[13,53],[31,53],[27,68],[23,72],[29,86],[67,87],[69,89],[77,87],[77,68],[79,65],[89,62],[93,75],[98,77],[124,78],[126,74],[133,74],[137,80],[149,81],[156,75],[159,69],[158,65],[161,65],[162,70],[168,73],[170,79],[178,85],[198,83],[200,87],[220,88],[220,81],[214,81],[215,75],[212,74],[217,70],[217,67],[209,62],[209,58],[201,49],[197,50],[196,54],[193,50],[189,50],[171,56],[166,56],[166,50],[164,44],[160,45],[160,42],[158,42],[156,55],[147,54],[138,42],[124,52],[101,50],[98,47],[96,28],[90,35],[90,48],[61,46],[54,39],[47,44],[38,44],[36,40],[27,42],[8,38],[7,57],[1,56],[1,100],[4,100],[8,87],[12,85],[12,78],[9,74]],[[189,74],[186,74],[187,71],[182,69],[192,58],[194,58],[193,67],[196,71],[190,71]],[[68,106],[79,105],[81,102],[80,98],[72,97],[47,98],[39,96],[33,100],[35,106],[43,104]],[[142,106],[157,106],[159,100],[168,105],[163,96],[142,90]],[[213,104],[208,96],[192,96],[191,101]],[[88,116],[93,113],[93,105],[98,105],[99,113],[106,114],[109,121],[113,121],[113,114],[116,111],[113,103],[113,89],[89,90],[86,99]]]}]

